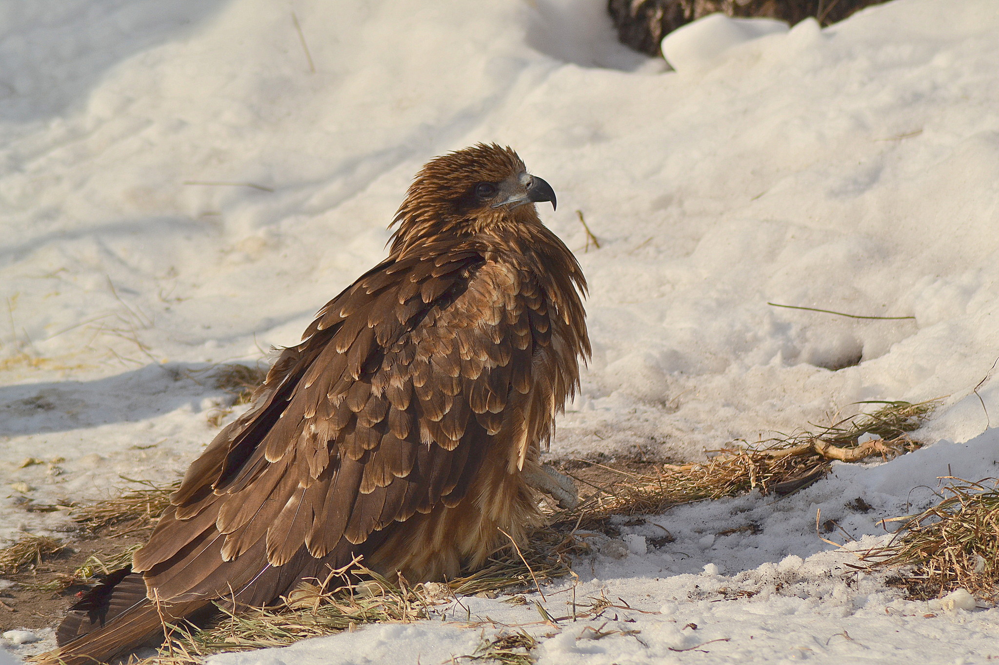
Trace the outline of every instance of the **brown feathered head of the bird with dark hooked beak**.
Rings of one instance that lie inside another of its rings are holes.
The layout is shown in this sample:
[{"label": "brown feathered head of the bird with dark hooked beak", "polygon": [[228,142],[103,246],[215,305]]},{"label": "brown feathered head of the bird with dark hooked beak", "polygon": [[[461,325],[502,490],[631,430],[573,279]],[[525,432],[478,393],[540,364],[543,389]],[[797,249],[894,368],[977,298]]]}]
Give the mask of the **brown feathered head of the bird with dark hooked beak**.
[{"label": "brown feathered head of the bird with dark hooked beak", "polygon": [[396,213],[393,252],[434,239],[517,233],[539,226],[534,203],[551,185],[527,172],[509,148],[479,144],[436,158],[417,173]]}]

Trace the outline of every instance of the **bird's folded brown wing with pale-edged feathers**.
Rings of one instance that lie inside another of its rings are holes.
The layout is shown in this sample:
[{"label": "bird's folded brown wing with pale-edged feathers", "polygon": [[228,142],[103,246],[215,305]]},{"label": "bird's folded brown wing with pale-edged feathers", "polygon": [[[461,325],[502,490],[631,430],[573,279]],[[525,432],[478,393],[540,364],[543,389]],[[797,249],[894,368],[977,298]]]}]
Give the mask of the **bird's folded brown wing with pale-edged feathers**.
[{"label": "bird's folded brown wing with pale-edged feathers", "polygon": [[454,244],[364,275],[192,465],[134,558],[150,592],[228,595],[303,547],[323,557],[457,504],[503,423],[529,420],[510,396],[530,392],[550,343],[546,303],[525,273]]}]

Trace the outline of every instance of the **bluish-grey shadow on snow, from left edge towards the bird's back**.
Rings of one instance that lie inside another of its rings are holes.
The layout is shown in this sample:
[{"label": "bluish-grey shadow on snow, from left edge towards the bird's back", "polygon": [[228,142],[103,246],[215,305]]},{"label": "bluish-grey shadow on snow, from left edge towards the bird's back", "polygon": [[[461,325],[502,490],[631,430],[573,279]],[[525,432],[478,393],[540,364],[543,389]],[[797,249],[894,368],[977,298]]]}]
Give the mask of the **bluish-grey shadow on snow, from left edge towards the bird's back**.
[{"label": "bluish-grey shadow on snow, from left edge towards the bird's back", "polygon": [[0,437],[135,423],[222,395],[207,363],[149,364],[94,381],[0,387]]}]

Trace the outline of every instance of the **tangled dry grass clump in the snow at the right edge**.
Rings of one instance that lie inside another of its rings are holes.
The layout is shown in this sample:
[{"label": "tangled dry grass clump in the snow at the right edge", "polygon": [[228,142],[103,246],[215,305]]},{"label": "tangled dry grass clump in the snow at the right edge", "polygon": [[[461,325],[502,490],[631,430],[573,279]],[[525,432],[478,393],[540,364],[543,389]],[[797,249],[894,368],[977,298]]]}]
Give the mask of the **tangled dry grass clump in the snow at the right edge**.
[{"label": "tangled dry grass clump in the snow at the right edge", "polygon": [[977,598],[999,599],[999,489],[982,483],[944,488],[951,495],[908,518],[887,546],[861,557],[873,566],[898,566],[892,578],[909,595],[927,599],[960,587]]}]

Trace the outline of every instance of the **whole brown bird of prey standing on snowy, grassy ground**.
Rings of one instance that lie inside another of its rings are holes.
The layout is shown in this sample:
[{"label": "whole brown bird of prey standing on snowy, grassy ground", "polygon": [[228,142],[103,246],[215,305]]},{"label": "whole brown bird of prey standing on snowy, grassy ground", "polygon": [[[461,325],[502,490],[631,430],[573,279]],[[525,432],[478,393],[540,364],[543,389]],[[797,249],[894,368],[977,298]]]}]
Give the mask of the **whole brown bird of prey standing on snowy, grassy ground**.
[{"label": "whole brown bird of prey standing on snowy, grassy ground", "polygon": [[[411,581],[481,566],[538,523],[539,446],[589,355],[585,280],[509,148],[420,170],[388,258],[285,349],[188,469],[132,565],[71,608],[50,661],[106,661],[162,621],[279,600],[364,557]],[[502,530],[500,530],[502,529]]]}]

